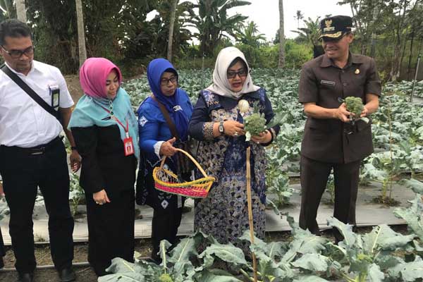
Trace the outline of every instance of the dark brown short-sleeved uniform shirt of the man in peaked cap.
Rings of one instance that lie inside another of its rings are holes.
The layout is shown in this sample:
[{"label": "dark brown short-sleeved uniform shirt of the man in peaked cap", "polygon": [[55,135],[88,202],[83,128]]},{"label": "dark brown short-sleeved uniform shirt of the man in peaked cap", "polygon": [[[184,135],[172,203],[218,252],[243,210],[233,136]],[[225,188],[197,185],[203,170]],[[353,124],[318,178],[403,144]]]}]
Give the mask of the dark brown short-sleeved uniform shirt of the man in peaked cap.
[{"label": "dark brown short-sleeved uniform shirt of the man in peaked cap", "polygon": [[[336,66],[326,54],[304,64],[298,96],[300,103],[336,109],[338,98],[381,95],[381,81],[374,59],[350,54],[344,68]],[[355,125],[334,118],[308,117],[302,139],[301,154],[309,159],[345,164],[364,159],[373,152],[371,122]]]}]

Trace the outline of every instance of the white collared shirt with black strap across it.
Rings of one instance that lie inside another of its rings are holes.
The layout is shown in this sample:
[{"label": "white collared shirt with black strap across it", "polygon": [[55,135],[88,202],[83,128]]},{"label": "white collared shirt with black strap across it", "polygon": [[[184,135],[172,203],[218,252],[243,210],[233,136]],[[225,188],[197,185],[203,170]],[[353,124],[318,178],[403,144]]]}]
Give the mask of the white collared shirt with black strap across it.
[{"label": "white collared shirt with black strap across it", "polygon": [[[27,75],[10,69],[47,104],[51,105],[52,102],[50,86],[60,90],[60,108],[73,106],[71,94],[59,68],[32,61],[31,70]],[[50,142],[61,130],[62,125],[54,116],[0,71],[0,145],[35,147]]]}]

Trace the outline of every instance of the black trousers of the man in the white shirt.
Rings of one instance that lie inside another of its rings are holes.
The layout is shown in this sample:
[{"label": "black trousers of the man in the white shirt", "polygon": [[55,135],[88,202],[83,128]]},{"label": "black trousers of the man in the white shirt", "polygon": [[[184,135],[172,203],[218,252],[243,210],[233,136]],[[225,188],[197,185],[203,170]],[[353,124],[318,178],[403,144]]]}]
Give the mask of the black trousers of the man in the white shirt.
[{"label": "black trousers of the man in the white shirt", "polygon": [[51,258],[56,269],[72,265],[73,217],[69,208],[69,173],[66,150],[56,138],[42,154],[27,149],[0,147],[0,173],[10,209],[9,233],[16,257],[16,270],[35,269],[32,212],[37,187],[42,192],[49,214]]}]

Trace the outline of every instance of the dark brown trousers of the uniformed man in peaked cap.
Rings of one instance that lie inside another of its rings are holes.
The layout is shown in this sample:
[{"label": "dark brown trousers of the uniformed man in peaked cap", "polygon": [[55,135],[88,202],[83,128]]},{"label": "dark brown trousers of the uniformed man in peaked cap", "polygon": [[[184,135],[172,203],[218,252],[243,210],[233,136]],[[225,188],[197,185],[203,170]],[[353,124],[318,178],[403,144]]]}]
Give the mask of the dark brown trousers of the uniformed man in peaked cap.
[{"label": "dark brown trousers of the uniformed man in peaked cap", "polygon": [[[343,223],[355,225],[355,202],[357,201],[360,161],[348,164],[330,164],[307,157],[300,160],[301,211],[300,227],[320,235],[316,221],[317,209],[326,183],[333,168],[335,178],[335,206],[333,216]],[[334,229],[336,240],[343,240]]]}]

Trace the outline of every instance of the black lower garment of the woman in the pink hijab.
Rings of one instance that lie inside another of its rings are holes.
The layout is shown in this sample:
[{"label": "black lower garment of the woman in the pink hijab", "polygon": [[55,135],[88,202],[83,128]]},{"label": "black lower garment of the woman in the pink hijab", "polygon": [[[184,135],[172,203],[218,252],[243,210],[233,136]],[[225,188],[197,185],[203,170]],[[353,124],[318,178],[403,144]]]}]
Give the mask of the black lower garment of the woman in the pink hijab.
[{"label": "black lower garment of the woman in the pink hijab", "polygon": [[109,195],[111,202],[96,204],[92,193],[85,193],[88,221],[88,262],[97,276],[106,274],[111,259],[134,261],[135,191]]}]

